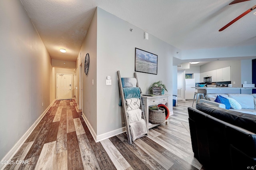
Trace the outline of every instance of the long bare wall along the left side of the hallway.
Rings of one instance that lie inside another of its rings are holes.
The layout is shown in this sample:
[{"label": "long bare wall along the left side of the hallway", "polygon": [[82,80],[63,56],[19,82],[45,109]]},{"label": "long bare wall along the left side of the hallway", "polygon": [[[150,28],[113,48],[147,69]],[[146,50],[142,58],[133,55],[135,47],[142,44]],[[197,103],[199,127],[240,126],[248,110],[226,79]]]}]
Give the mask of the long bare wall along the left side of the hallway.
[{"label": "long bare wall along the left side of the hallway", "polygon": [[50,56],[21,2],[1,0],[0,21],[2,160],[52,101]]}]

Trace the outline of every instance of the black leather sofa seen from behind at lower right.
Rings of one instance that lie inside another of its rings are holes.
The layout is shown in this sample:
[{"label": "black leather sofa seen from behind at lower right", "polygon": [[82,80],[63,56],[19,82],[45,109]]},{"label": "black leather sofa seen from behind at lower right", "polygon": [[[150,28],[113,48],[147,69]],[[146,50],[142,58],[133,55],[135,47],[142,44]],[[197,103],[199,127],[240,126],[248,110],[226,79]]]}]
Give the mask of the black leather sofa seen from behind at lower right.
[{"label": "black leather sofa seen from behind at lower right", "polygon": [[208,103],[188,115],[194,157],[207,170],[256,170],[256,115]]}]

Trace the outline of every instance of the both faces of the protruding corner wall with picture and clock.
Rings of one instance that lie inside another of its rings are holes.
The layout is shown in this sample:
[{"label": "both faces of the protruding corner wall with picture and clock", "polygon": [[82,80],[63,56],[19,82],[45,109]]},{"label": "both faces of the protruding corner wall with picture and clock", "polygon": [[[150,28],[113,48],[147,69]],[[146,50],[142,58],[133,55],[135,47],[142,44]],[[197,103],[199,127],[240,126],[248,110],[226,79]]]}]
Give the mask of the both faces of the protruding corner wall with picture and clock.
[{"label": "both faces of the protruding corner wall with picture and clock", "polygon": [[[124,118],[121,107],[118,106],[117,71],[120,70],[122,77],[133,77],[135,47],[158,55],[157,75],[137,73],[139,85],[144,94],[148,93],[148,87],[153,82],[162,80],[168,89],[166,94],[172,95],[172,57],[177,55],[176,51],[179,50],[152,35],[149,35],[149,40],[144,40],[143,30],[100,8],[97,8],[91,25],[90,28],[93,31],[87,32],[81,48],[81,51],[84,53],[89,51],[90,54],[89,73],[83,79],[88,82],[86,83],[88,89],[84,89],[83,97],[86,100],[84,105],[88,107],[83,107],[86,109],[83,112],[96,132],[97,140],[101,140],[104,137],[110,137],[108,135],[122,132],[125,126],[122,124]],[[132,32],[130,28],[133,29]],[[94,38],[97,38],[97,42],[93,40]],[[97,51],[95,51],[96,47]],[[112,79],[111,86],[106,85],[108,75]],[[94,85],[91,83],[92,79],[94,79]],[[172,111],[172,97],[169,99]]]}]

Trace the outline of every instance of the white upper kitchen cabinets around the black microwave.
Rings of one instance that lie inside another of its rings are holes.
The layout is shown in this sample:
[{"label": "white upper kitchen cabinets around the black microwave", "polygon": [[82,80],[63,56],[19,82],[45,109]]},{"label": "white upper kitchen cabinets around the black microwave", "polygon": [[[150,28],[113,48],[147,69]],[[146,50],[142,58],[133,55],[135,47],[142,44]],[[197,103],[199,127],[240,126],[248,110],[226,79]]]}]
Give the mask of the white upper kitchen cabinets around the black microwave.
[{"label": "white upper kitchen cabinets around the black microwave", "polygon": [[204,77],[210,77],[210,76],[212,77],[212,82],[231,81],[230,66],[200,73],[200,82],[204,82]]}]

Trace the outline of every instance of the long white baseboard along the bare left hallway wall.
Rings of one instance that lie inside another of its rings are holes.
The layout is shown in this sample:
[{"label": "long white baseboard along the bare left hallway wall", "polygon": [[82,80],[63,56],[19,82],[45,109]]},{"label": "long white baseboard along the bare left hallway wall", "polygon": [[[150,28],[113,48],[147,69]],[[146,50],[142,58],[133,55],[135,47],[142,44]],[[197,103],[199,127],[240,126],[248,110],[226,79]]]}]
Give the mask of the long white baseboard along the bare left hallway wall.
[{"label": "long white baseboard along the bare left hallway wall", "polygon": [[[36,126],[38,125],[38,123],[42,120],[42,118],[44,117],[44,115],[47,113],[47,111],[50,109],[50,107],[53,105],[53,103],[56,101],[56,99],[54,99],[54,101],[47,107],[47,109],[42,113],[42,115],[35,121],[35,123],[33,123],[33,125],[26,131],[25,134],[23,134],[23,136],[18,140],[18,142],[16,142],[16,144],[11,148],[11,150],[4,156],[4,158],[2,160],[11,160],[11,158],[16,154],[16,152],[18,152],[18,150],[20,149],[20,147],[22,146],[22,144],[26,141],[26,139],[28,138],[28,136],[32,133],[32,131],[34,130],[34,128],[36,128]],[[5,168],[7,164],[0,164],[0,169],[3,170]]]}]

